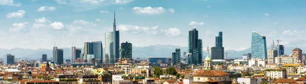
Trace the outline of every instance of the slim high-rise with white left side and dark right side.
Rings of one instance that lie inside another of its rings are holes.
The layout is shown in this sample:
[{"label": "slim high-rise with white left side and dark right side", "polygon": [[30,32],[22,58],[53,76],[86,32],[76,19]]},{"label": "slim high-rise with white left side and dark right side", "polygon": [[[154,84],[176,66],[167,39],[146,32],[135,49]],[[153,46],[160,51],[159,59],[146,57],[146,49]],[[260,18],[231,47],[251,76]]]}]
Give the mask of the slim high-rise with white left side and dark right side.
[{"label": "slim high-rise with white left side and dark right side", "polygon": [[70,50],[70,61],[71,63],[75,63],[77,58],[80,58],[81,49],[76,49],[74,46],[71,47]]}]

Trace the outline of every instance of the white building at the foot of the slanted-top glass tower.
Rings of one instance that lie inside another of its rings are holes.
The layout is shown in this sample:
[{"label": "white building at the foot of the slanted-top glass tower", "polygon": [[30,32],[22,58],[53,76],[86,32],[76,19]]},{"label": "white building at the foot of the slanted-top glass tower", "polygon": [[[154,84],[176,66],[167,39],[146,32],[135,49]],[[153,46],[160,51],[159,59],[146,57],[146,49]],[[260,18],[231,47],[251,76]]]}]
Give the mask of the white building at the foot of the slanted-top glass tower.
[{"label": "white building at the foot of the slanted-top glass tower", "polygon": [[255,57],[248,60],[248,67],[255,67],[255,66],[265,67],[264,59]]}]

